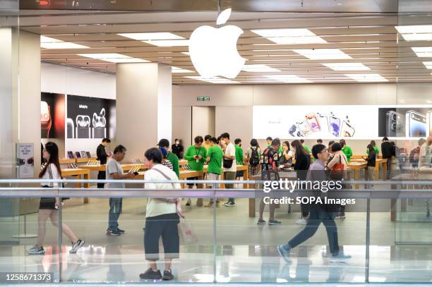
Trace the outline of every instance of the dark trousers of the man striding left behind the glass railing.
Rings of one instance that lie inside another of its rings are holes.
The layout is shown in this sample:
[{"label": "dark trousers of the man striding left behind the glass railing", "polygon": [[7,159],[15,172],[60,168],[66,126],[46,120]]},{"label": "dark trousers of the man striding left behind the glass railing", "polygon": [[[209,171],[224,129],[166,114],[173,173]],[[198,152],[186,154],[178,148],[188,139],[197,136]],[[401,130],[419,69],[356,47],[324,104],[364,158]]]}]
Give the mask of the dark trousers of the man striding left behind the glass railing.
[{"label": "dark trousers of the man striding left behind the glass railing", "polygon": [[292,240],[289,240],[285,248],[295,248],[297,245],[304,243],[316,233],[321,223],[327,231],[328,245],[332,255],[339,254],[339,242],[337,240],[337,226],[335,223],[335,214],[333,212],[310,210],[308,223]]}]

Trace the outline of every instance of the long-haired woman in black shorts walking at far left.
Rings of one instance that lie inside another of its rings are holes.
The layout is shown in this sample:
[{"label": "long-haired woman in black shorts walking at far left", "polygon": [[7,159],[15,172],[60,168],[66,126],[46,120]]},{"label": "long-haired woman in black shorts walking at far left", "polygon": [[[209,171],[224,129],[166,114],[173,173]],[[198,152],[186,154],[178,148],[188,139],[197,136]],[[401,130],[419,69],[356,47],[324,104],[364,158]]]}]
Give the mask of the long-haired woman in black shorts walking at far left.
[{"label": "long-haired woman in black shorts walking at far left", "polygon": [[[61,169],[59,162],[59,147],[54,142],[47,142],[42,150],[42,156],[47,161],[44,169],[39,173],[39,178],[45,180],[61,179]],[[58,188],[59,183],[41,183],[42,188]],[[52,225],[59,227],[59,202],[55,197],[42,197],[39,204],[39,214],[37,216],[37,243],[28,250],[29,255],[44,255],[44,239],[46,233],[46,223],[51,219]],[[66,224],[61,224],[61,231],[68,236],[72,242],[69,253],[76,253],[84,245],[84,240],[76,237],[75,233]]]}]

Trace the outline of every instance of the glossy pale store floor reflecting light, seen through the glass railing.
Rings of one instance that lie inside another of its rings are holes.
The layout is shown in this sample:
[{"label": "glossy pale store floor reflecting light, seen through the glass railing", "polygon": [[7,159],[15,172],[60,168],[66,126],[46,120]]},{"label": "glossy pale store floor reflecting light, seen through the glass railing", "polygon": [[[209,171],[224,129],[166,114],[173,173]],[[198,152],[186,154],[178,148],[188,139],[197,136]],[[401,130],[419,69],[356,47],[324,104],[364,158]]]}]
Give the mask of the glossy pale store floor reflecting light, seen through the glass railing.
[{"label": "glossy pale store floor reflecting light, seen through the glass railing", "polygon": [[[92,199],[90,204],[80,202],[68,202],[64,221],[85,239],[86,244],[76,255],[71,255],[68,253],[71,245],[64,238],[61,272],[57,231],[50,223],[47,223],[46,255],[25,254],[25,250],[35,243],[35,238],[21,239],[16,245],[0,245],[0,271],[50,271],[56,278],[61,273],[61,281],[67,282],[140,282],[138,274],[147,269],[142,230],[145,200],[125,200],[120,224],[126,234],[120,237],[109,237],[104,233],[107,228],[107,200]],[[281,208],[277,218],[282,221],[282,226],[256,226],[256,218],[248,218],[247,200],[236,200],[236,203],[236,207],[217,209],[186,208],[186,217],[198,235],[198,244],[181,245],[180,259],[173,264],[175,281],[365,282],[364,213],[349,213],[347,219],[337,221],[342,250],[352,255],[347,264],[330,263],[323,227],[304,245],[292,250],[293,262],[286,264],[277,255],[276,246],[303,228],[295,224],[299,214],[287,214]],[[26,232],[35,233],[37,217],[35,214],[27,217]],[[214,218],[217,219],[215,229]],[[13,221],[0,221],[2,230],[10,230],[6,226],[13,224]],[[20,224],[23,229],[23,223]],[[369,280],[431,282],[432,247],[395,245],[395,228],[389,213],[372,214]],[[409,226],[406,228],[409,232]],[[428,233],[421,236],[428,236]],[[162,261],[159,267],[163,269]]]}]

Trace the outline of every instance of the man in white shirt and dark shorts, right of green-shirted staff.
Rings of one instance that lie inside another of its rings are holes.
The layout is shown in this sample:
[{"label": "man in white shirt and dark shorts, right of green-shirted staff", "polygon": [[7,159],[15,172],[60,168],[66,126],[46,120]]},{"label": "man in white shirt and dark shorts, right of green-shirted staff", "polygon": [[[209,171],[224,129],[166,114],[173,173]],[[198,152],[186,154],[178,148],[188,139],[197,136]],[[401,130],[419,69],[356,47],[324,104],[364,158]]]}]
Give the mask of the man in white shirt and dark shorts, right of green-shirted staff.
[{"label": "man in white shirt and dark shorts, right of green-shirted staff", "polygon": [[[222,133],[220,139],[223,144],[224,150],[224,180],[225,181],[235,181],[236,180],[236,147],[229,140],[229,133]],[[234,188],[234,183],[225,184],[225,188]],[[235,207],[236,203],[234,198],[229,198],[228,202],[224,203],[226,207]]]}]

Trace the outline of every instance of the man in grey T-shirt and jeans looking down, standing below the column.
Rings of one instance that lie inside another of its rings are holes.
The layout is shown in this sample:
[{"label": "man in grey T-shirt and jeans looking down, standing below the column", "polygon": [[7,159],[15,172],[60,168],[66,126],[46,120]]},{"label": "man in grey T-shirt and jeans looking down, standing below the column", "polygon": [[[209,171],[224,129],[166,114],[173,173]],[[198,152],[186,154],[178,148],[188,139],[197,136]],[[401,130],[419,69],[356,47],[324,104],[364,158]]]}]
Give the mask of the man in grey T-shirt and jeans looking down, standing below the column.
[{"label": "man in grey T-shirt and jeans looking down, standing below the column", "polygon": [[[120,162],[126,155],[126,147],[117,145],[111,158],[109,158],[106,166],[107,180],[124,180],[127,178],[135,178],[133,173],[124,173],[121,168]],[[108,189],[124,189],[124,183],[107,183],[105,188]],[[109,214],[108,214],[108,228],[107,235],[120,236],[125,231],[119,228],[119,217],[123,205],[123,198],[112,197],[109,198]]]}]

